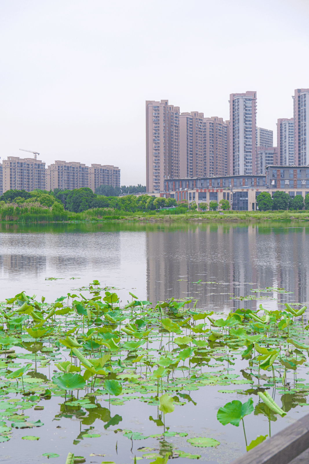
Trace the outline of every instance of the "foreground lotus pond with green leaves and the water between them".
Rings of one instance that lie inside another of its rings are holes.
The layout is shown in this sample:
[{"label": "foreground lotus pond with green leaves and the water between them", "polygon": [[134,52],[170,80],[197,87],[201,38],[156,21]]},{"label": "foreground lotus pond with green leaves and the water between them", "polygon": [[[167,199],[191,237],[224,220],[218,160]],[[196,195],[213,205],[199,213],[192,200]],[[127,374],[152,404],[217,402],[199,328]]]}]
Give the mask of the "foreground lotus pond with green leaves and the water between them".
[{"label": "foreground lotus pond with green leaves and the water between them", "polygon": [[300,303],[120,304],[98,280],[52,303],[26,293],[0,306],[4,462],[229,463],[309,412]]}]

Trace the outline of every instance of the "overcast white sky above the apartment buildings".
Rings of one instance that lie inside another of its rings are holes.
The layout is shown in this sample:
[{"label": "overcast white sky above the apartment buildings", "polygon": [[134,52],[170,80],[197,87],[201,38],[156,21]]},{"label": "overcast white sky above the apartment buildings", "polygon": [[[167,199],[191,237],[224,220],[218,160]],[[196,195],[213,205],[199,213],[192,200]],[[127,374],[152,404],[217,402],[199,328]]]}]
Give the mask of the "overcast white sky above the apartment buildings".
[{"label": "overcast white sky above the apartment buildings", "polygon": [[145,100],[228,119],[246,90],[276,145],[309,88],[308,24],[309,0],[2,0],[1,160],[26,148],[145,185]]}]

